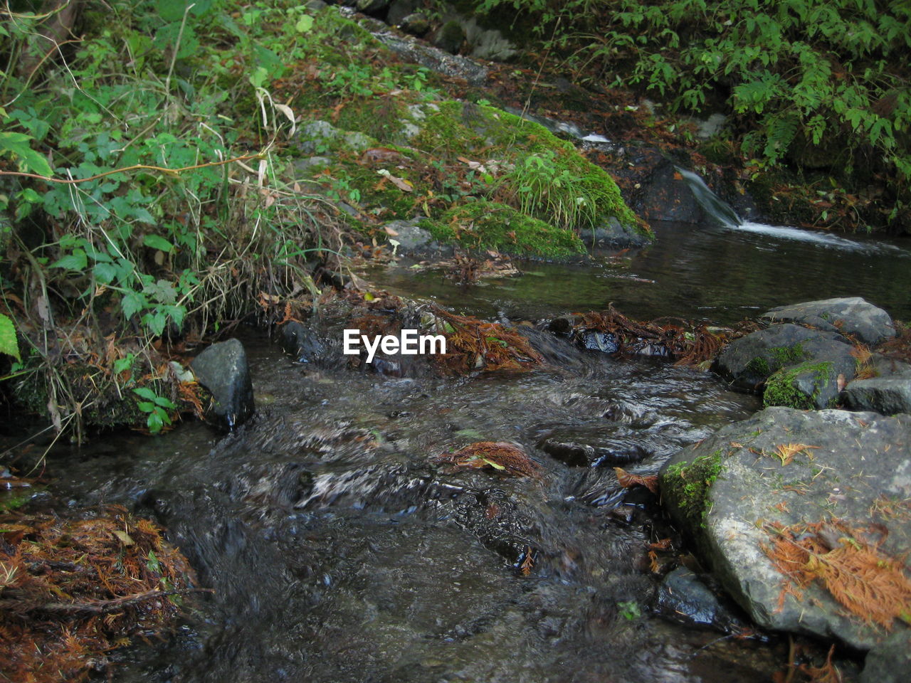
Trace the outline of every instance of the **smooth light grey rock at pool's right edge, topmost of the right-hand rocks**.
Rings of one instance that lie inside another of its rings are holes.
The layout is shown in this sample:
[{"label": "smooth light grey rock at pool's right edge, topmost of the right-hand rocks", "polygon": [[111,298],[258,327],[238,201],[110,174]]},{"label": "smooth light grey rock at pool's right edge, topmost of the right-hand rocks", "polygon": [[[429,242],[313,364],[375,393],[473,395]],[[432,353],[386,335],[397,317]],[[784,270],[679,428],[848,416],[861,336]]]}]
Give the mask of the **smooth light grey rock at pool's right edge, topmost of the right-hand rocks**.
[{"label": "smooth light grey rock at pool's right edge, topmost of the right-hand rocks", "polygon": [[871,345],[896,334],[889,314],[860,297],[793,303],[766,311],[762,317],[773,322],[799,322],[820,330],[852,334]]}]

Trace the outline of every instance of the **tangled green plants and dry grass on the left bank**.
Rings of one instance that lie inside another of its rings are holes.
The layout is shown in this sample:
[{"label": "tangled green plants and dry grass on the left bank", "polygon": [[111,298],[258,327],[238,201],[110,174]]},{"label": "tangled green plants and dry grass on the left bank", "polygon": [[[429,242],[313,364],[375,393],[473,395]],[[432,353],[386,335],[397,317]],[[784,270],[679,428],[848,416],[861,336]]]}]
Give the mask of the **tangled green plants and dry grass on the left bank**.
[{"label": "tangled green plants and dry grass on the left bank", "polygon": [[[102,411],[126,420],[139,411],[159,431],[173,404],[142,396],[145,387],[138,406],[123,401],[135,382],[120,376],[136,363],[141,382],[159,391],[176,381],[159,376],[150,342],[185,332],[188,321],[202,333],[244,315],[260,291],[311,287],[307,254],[336,246],[327,234],[334,219],[291,191],[288,161],[273,147],[296,123],[270,88],[325,40],[316,17],[294,2],[190,5],[88,0],[81,42],[31,74],[21,66],[36,49],[45,55],[46,17],[0,16],[0,162],[77,181],[0,177],[0,258],[20,260],[6,261],[5,273],[28,274],[5,289],[34,304],[29,324],[18,325],[31,331],[28,357],[14,371],[31,376],[15,391],[58,429],[78,431]],[[241,155],[245,168],[220,163]],[[142,168],[120,170],[132,167]],[[15,355],[6,322],[0,352]],[[74,324],[90,332],[73,335]],[[127,335],[138,352],[97,359]],[[61,345],[70,363],[55,351]]]}]

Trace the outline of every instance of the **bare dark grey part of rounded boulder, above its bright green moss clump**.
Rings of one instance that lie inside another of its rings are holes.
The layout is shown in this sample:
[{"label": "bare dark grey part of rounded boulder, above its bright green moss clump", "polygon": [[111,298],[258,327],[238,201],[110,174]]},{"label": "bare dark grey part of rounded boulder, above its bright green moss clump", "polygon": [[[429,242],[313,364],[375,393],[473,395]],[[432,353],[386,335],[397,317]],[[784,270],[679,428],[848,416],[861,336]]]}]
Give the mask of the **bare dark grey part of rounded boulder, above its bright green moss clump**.
[{"label": "bare dark grey part of rounded boulder, above its bright green moss clump", "polygon": [[833,362],[836,378],[839,373],[846,379],[854,377],[855,359],[844,337],[789,323],[731,342],[715,360],[713,370],[740,389],[756,391],[773,372],[806,362]]}]

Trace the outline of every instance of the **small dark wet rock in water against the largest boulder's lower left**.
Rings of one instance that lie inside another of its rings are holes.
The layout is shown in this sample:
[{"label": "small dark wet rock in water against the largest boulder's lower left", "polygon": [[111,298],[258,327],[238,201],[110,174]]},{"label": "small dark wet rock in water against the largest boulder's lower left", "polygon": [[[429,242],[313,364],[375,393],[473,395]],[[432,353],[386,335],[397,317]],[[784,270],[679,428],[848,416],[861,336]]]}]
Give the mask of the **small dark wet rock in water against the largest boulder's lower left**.
[{"label": "small dark wet rock in water against the largest boulder's lower left", "polygon": [[728,632],[740,620],[722,606],[709,586],[685,566],[679,566],[661,581],[655,610],[674,621],[711,626]]}]

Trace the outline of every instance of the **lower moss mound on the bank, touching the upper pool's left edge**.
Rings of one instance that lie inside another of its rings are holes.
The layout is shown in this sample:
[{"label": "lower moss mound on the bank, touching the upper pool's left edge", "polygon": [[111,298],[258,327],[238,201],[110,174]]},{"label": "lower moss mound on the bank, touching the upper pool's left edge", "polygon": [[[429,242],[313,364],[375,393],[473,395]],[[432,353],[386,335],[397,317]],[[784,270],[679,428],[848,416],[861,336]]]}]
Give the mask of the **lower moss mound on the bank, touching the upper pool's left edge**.
[{"label": "lower moss mound on the bank, touching the upper pool's left edge", "polygon": [[584,253],[578,236],[494,201],[474,201],[449,209],[439,220],[425,220],[435,240],[466,249],[496,249],[517,256],[566,258]]}]

